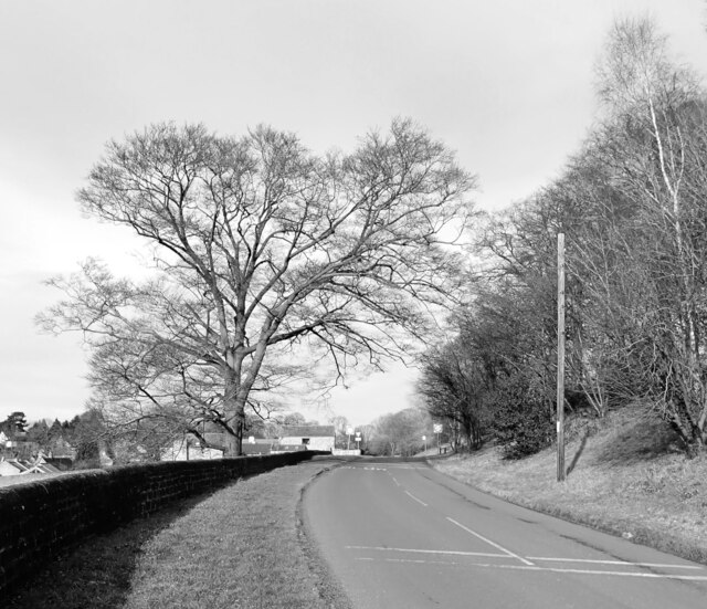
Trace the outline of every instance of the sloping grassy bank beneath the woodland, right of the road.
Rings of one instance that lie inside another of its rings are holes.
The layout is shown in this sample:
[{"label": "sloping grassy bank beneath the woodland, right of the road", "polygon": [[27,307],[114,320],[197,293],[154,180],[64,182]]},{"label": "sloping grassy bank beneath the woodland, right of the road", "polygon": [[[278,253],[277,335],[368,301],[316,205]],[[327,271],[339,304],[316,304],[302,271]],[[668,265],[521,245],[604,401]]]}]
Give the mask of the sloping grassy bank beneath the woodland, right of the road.
[{"label": "sloping grassy bank beneath the woodland, right of the road", "polygon": [[576,424],[571,470],[556,451],[505,461],[495,448],[433,466],[496,496],[707,564],[707,456],[686,460],[666,427],[635,409]]}]

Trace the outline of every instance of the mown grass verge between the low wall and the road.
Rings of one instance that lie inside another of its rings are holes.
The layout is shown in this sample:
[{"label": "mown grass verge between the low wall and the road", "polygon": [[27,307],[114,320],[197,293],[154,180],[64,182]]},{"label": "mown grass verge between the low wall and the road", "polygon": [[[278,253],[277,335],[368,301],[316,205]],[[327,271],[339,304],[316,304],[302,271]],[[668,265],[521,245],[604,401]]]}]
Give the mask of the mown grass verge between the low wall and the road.
[{"label": "mown grass verge between the low wall and the road", "polygon": [[298,513],[304,487],[325,466],[253,476],[94,538],[8,607],[346,607],[304,538]]}]

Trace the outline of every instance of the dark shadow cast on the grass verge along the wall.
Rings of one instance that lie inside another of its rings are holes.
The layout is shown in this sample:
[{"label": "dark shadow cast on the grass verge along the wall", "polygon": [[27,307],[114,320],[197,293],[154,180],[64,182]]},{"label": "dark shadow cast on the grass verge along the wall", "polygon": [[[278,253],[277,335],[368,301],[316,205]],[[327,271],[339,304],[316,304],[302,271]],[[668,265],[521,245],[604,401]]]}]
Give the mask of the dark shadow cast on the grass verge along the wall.
[{"label": "dark shadow cast on the grass verge along the wall", "polygon": [[187,514],[212,492],[190,497],[128,523],[110,533],[89,537],[40,568],[35,576],[8,591],[3,609],[118,609],[130,591],[143,546],[161,529]]}]

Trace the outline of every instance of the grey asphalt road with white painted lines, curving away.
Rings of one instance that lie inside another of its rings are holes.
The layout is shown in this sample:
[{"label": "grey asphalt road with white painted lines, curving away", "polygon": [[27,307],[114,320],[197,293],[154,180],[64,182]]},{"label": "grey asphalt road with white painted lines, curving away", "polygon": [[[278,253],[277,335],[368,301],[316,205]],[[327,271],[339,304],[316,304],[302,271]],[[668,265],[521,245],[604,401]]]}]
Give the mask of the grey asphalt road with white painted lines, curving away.
[{"label": "grey asphalt road with white painted lines, curving away", "polygon": [[304,514],[359,609],[707,608],[707,567],[508,504],[424,463],[333,462]]}]

